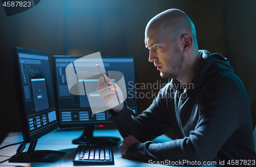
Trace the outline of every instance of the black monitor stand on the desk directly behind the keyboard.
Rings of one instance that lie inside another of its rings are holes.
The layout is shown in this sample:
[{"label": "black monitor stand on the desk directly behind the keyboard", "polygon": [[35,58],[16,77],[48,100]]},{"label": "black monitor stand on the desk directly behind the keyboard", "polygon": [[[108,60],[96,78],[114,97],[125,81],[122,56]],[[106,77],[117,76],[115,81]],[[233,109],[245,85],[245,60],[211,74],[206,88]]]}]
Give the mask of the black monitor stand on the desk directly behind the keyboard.
[{"label": "black monitor stand on the desk directly behind the keyboard", "polygon": [[86,126],[83,130],[83,134],[72,141],[72,144],[75,145],[86,145],[86,144],[94,144],[94,145],[109,145],[109,146],[117,146],[120,138],[117,137],[94,137],[93,131],[96,126]]}]

